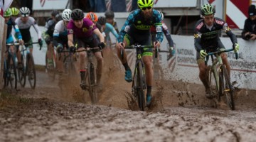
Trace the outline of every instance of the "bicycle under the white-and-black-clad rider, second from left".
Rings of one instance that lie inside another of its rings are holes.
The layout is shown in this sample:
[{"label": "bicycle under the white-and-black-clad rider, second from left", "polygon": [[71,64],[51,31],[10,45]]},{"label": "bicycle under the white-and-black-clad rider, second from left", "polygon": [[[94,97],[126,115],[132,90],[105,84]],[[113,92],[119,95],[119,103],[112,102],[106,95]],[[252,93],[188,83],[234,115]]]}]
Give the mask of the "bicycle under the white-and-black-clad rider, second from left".
[{"label": "bicycle under the white-and-black-clad rider, second from left", "polygon": [[[9,45],[19,45],[21,51],[21,68],[18,69],[18,81],[21,87],[26,85],[26,76],[28,76],[28,82],[32,89],[36,88],[36,69],[33,55],[30,53],[29,48],[26,45],[38,44],[38,43],[25,43],[20,45],[19,43],[13,43]],[[41,50],[41,48],[40,48]]]}]

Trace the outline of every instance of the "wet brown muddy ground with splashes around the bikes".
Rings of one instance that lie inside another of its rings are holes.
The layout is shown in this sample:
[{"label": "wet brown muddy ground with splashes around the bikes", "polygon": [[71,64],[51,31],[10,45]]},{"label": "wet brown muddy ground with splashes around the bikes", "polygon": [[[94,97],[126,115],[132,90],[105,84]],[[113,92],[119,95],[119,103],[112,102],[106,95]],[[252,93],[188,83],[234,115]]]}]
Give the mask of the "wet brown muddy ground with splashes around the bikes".
[{"label": "wet brown muddy ground with splashes around the bikes", "polygon": [[49,80],[43,71],[35,90],[2,90],[0,141],[256,141],[255,90],[236,89],[230,111],[206,99],[201,84],[161,80],[151,107],[137,111],[123,70],[106,68],[95,105],[79,80],[61,91],[58,77]]}]

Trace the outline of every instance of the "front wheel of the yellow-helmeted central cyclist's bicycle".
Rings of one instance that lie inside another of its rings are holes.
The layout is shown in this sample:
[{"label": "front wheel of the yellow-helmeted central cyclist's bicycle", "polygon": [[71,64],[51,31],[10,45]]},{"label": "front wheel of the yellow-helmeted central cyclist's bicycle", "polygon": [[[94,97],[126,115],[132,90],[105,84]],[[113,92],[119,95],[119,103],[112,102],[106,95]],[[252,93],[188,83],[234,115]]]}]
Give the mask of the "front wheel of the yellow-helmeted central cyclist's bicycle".
[{"label": "front wheel of the yellow-helmeted central cyclist's bicycle", "polygon": [[143,75],[143,68],[142,68],[142,62],[138,62],[137,67],[135,69],[135,72],[137,71],[137,73],[135,73],[135,75],[137,75],[135,82],[136,85],[135,87],[137,87],[136,93],[137,93],[137,101],[138,101],[138,105],[139,105],[139,109],[141,111],[145,110],[145,94],[144,94],[144,75]]}]

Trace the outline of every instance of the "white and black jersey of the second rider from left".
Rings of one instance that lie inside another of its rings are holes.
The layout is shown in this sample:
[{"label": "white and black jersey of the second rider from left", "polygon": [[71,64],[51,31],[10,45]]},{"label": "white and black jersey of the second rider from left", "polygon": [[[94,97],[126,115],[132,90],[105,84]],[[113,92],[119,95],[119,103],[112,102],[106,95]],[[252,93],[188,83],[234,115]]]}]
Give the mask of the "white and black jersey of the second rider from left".
[{"label": "white and black jersey of the second rider from left", "polygon": [[21,35],[25,43],[28,43],[28,41],[31,40],[31,33],[29,31],[31,26],[35,28],[36,33],[38,34],[38,38],[41,38],[41,31],[39,30],[38,24],[36,23],[33,17],[28,16],[28,21],[26,23],[23,23],[21,21],[21,17],[18,17],[16,18],[15,23],[17,24],[19,30],[21,31]]}]

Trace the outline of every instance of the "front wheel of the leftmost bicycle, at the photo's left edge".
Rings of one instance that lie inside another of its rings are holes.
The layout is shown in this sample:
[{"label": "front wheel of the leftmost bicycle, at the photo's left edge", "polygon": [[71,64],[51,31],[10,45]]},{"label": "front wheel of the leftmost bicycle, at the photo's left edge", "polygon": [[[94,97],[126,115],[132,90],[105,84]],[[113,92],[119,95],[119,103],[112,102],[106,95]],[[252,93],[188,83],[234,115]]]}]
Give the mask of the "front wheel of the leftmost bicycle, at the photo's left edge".
[{"label": "front wheel of the leftmost bicycle, at the photo's left edge", "polygon": [[17,88],[17,72],[16,72],[16,66],[14,62],[14,56],[13,55],[8,55],[8,60],[7,60],[7,86],[10,83],[11,89],[16,89]]}]

